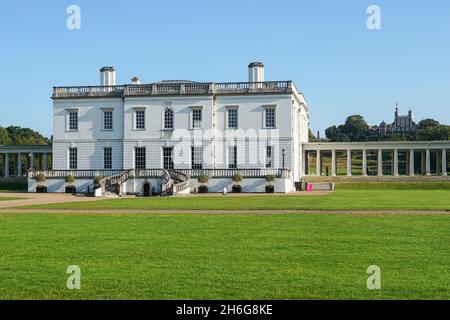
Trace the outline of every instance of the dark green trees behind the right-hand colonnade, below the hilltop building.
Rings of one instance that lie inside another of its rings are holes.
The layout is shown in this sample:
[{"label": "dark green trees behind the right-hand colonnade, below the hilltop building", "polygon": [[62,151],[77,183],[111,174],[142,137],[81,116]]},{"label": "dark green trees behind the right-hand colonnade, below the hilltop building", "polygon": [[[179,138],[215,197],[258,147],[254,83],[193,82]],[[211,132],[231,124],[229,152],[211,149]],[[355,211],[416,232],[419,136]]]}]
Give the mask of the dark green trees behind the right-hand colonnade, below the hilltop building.
[{"label": "dark green trees behind the right-hand colonnade, below the hilltop building", "polygon": [[445,141],[450,140],[450,126],[425,119],[418,123],[416,132],[373,134],[363,116],[352,115],[344,124],[326,129],[325,136],[331,142]]}]

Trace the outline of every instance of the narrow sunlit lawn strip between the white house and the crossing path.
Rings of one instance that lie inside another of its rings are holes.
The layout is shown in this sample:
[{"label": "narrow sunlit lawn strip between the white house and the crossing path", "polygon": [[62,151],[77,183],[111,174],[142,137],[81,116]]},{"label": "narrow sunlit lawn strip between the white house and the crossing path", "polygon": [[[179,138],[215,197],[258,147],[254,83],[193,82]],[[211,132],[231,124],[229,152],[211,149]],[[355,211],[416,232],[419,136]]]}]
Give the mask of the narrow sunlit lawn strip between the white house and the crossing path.
[{"label": "narrow sunlit lawn strip between the white house and the crossing path", "polygon": [[41,205],[68,210],[450,210],[450,183],[340,184],[326,196],[112,199]]}]

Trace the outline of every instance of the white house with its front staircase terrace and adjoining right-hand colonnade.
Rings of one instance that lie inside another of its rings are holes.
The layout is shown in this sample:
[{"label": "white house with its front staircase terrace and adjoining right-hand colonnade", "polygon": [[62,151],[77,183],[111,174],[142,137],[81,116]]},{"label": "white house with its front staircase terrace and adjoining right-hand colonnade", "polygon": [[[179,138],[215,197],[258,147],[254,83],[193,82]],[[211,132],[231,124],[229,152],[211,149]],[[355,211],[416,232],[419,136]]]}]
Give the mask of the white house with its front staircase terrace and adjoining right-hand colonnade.
[{"label": "white house with its front staircase terrace and adjoining right-hand colonnade", "polygon": [[[264,192],[268,175],[276,192],[295,190],[305,176],[448,176],[449,141],[309,143],[308,106],[295,84],[266,81],[260,62],[248,74],[246,82],[135,77],[117,85],[115,69],[104,67],[98,86],[53,88],[48,191],[63,192],[67,175],[79,192],[101,176],[122,194],[189,193],[200,175],[221,192],[236,173],[244,192]],[[28,173],[30,191],[39,172]]]}]

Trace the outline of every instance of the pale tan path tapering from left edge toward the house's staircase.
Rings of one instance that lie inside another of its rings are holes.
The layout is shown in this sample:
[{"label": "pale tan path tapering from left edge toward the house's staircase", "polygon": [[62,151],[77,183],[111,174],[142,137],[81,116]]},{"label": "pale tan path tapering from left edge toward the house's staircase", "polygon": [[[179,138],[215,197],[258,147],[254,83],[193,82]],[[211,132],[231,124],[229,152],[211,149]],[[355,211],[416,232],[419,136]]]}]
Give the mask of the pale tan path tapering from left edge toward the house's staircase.
[{"label": "pale tan path tapering from left edge toward the house's staircase", "polygon": [[38,204],[96,201],[101,199],[93,197],[74,196],[65,193],[0,193],[0,198],[21,198],[20,200],[0,201],[0,210]]}]

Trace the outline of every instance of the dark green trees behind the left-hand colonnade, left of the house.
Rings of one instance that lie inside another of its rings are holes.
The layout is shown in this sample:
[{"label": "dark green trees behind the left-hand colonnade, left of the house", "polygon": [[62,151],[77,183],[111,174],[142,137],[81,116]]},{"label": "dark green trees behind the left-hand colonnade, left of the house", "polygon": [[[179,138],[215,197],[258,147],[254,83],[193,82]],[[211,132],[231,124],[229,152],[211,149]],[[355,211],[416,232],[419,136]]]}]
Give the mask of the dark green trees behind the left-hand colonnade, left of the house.
[{"label": "dark green trees behind the left-hand colonnade, left of the house", "polygon": [[0,145],[2,146],[47,145],[50,143],[48,138],[29,128],[0,127]]}]

